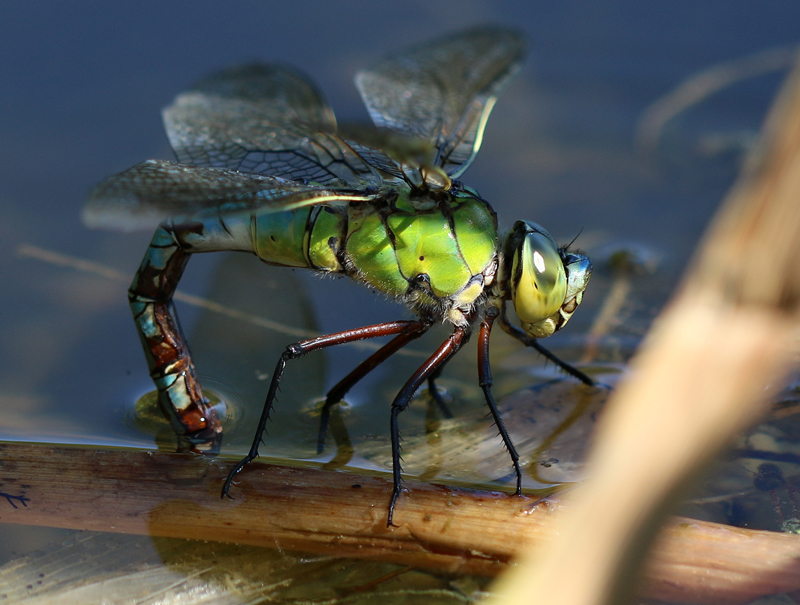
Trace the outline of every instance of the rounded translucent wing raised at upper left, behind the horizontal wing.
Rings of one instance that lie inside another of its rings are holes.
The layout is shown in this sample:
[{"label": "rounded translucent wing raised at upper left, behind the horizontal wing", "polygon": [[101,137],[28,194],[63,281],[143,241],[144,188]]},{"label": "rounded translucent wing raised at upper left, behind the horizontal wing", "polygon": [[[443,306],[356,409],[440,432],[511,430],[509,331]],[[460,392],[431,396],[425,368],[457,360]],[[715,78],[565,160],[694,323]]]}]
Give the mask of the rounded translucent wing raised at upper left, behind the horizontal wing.
[{"label": "rounded translucent wing raised at upper left, behind the horizontal wing", "polygon": [[282,65],[249,64],[201,80],[163,112],[178,160],[321,184],[378,184],[373,168],[335,135],[317,88]]}]

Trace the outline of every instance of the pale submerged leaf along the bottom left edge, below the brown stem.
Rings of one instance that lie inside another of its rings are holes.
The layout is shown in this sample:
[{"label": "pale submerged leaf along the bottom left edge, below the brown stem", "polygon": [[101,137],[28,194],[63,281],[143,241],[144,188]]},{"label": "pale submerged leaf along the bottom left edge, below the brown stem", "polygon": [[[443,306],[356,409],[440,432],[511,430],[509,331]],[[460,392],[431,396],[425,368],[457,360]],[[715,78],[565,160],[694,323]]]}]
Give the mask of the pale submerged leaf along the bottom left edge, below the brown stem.
[{"label": "pale submerged leaf along the bottom left edge, below the brown stem", "polygon": [[350,565],[253,546],[91,532],[0,568],[8,603],[449,604],[470,602],[485,584],[378,561]]}]

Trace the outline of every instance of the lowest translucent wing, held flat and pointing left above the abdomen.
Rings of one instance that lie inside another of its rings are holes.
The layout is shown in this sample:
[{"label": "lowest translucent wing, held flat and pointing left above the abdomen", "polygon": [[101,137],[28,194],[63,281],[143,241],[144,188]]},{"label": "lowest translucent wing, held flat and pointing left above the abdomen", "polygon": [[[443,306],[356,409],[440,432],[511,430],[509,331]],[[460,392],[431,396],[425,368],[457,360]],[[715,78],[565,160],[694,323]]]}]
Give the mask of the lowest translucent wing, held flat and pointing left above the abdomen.
[{"label": "lowest translucent wing, held flat and pointing left above the abdomen", "polygon": [[366,202],[376,193],[304,185],[279,177],[148,160],[95,187],[83,209],[89,227],[155,227],[164,219],[199,221],[220,213],[281,212],[334,202]]}]

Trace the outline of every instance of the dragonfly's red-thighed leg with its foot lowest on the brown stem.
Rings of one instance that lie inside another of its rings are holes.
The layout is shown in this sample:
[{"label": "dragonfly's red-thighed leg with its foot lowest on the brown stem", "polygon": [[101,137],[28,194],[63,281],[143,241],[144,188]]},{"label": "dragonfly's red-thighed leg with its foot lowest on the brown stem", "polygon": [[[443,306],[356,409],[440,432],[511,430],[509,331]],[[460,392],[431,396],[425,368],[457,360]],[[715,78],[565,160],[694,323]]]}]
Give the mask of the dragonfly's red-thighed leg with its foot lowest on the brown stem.
[{"label": "dragonfly's red-thighed leg with its foot lowest on the brown stem", "polygon": [[389,518],[386,526],[391,527],[394,525],[392,519],[394,517],[394,505],[397,498],[402,491],[401,486],[401,458],[400,458],[400,429],[398,425],[398,416],[400,412],[404,411],[407,407],[414,393],[420,385],[425,382],[431,375],[433,375],[437,368],[444,364],[450,357],[452,357],[467,340],[469,328],[456,328],[447,340],[431,355],[428,360],[422,364],[419,369],[408,379],[403,385],[403,388],[397,394],[392,402],[392,414],[390,432],[392,436],[392,499],[389,502]]}]

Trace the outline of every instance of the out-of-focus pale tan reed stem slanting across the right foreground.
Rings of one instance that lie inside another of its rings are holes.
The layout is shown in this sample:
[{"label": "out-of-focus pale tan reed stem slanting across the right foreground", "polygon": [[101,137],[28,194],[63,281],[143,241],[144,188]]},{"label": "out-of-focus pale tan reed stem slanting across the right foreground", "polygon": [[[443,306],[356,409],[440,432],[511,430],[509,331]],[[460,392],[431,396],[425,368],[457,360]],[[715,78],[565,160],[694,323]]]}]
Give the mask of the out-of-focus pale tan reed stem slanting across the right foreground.
[{"label": "out-of-focus pale tan reed stem slanting across the right foreground", "polygon": [[[767,410],[764,387],[788,372],[800,306],[798,259],[800,67],[695,268],[631,364],[631,379],[609,402],[591,479],[557,523],[558,539],[526,555],[495,603],[618,604],[630,595],[645,547],[687,478]],[[744,591],[720,602],[752,598]]]}]

